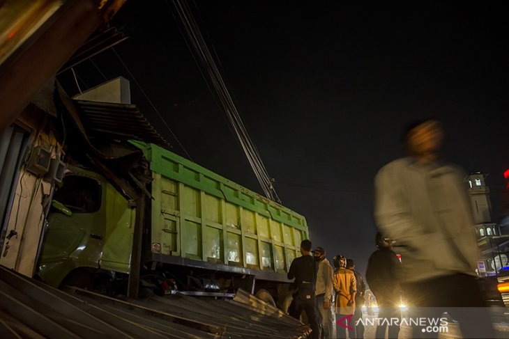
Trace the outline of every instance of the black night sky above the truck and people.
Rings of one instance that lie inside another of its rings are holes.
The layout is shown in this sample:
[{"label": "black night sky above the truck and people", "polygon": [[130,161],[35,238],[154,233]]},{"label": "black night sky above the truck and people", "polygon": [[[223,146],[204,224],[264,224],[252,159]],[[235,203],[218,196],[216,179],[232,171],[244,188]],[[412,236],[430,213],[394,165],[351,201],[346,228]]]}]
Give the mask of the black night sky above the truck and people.
[{"label": "black night sky above the truck and people", "polygon": [[[403,155],[400,131],[411,120],[443,121],[444,157],[490,174],[500,216],[507,11],[420,4],[190,2],[283,205],[306,217],[314,246],[354,258],[363,274],[375,249],[373,178]],[[193,161],[260,193],[173,15],[171,1],[127,1],[113,25],[130,38],[115,50]],[[184,155],[115,54],[93,61],[105,77],[89,61],[78,65],[82,89],[131,80],[132,102]]]}]

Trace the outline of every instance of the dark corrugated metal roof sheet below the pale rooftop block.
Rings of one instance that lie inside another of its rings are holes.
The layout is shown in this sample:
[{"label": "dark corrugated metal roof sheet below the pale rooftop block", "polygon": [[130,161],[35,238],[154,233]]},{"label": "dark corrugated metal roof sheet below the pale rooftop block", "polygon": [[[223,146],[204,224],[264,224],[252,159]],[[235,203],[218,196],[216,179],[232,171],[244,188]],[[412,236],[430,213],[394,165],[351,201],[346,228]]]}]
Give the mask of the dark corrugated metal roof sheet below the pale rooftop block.
[{"label": "dark corrugated metal roof sheet below the pale rooftop block", "polygon": [[146,120],[135,104],[74,100],[87,134],[107,134],[114,139],[136,139],[163,147],[171,145]]}]

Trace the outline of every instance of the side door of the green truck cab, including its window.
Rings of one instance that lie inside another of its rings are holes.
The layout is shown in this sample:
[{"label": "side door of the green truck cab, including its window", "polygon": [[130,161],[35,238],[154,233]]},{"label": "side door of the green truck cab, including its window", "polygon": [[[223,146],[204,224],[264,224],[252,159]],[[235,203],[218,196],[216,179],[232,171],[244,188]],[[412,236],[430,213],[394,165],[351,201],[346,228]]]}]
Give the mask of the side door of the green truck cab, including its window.
[{"label": "side door of the green truck cab, including its window", "polygon": [[98,268],[105,227],[101,182],[85,175],[67,175],[53,200],[60,207],[52,208],[48,216],[39,275],[59,286],[75,268]]}]

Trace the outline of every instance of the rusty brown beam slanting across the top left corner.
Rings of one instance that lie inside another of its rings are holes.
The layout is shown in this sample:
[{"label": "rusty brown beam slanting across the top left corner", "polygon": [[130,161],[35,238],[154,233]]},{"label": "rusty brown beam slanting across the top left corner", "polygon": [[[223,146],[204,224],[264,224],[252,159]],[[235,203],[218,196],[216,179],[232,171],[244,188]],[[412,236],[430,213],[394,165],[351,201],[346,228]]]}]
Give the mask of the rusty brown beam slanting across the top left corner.
[{"label": "rusty brown beam slanting across the top left corner", "polygon": [[[0,8],[6,5],[4,2],[0,1]],[[6,61],[0,63],[0,96],[3,98],[0,100],[0,132],[13,123],[50,77],[101,24],[113,17],[124,2],[125,0],[58,1],[61,6],[45,24],[40,25],[30,38],[10,52],[11,55]],[[7,25],[14,24],[15,22],[12,22]]]}]

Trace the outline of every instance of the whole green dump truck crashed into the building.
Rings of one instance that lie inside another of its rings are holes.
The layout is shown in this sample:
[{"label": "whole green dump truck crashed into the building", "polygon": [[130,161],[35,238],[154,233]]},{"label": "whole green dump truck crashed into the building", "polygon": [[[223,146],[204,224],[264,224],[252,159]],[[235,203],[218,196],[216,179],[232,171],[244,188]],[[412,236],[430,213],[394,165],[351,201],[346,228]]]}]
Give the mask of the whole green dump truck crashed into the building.
[{"label": "whole green dump truck crashed into the building", "polygon": [[[305,218],[158,145],[132,145],[151,175],[142,285],[158,281],[168,290],[174,283],[201,293],[245,287],[281,298],[289,265],[308,238]],[[68,169],[54,194],[38,275],[56,287],[122,286],[137,207],[98,172]]]}]

